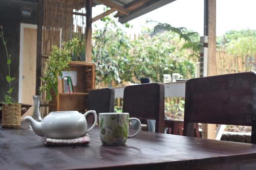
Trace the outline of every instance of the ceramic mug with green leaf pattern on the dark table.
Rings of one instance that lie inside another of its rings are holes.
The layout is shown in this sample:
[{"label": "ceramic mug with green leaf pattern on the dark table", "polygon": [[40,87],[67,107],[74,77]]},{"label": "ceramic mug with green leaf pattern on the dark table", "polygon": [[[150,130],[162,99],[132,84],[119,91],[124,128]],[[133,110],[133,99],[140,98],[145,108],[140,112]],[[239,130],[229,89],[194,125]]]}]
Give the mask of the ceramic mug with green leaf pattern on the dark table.
[{"label": "ceramic mug with green leaf pattern on the dark table", "polygon": [[[139,122],[139,129],[134,135],[129,135],[130,120]],[[140,130],[140,120],[129,118],[129,113],[99,113],[99,134],[103,144],[124,145],[127,138],[136,136]]]}]

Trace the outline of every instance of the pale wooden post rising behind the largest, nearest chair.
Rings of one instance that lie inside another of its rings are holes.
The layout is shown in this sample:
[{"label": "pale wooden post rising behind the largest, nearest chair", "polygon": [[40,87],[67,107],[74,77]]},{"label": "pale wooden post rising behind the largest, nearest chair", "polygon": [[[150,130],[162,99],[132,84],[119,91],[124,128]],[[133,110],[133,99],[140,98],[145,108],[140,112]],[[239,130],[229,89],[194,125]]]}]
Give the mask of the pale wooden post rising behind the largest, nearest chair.
[{"label": "pale wooden post rising behind the largest, nearest chair", "polygon": [[[208,76],[217,75],[216,67],[216,0],[205,0],[204,34],[208,36]],[[216,125],[203,124],[202,138],[215,139]]]}]

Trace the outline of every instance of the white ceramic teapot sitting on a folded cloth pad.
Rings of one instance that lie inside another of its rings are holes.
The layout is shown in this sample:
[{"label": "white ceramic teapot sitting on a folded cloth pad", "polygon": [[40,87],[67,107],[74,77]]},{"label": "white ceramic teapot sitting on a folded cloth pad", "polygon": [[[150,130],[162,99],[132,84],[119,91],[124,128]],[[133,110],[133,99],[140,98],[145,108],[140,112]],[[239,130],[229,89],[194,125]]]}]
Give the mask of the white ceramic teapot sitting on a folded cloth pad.
[{"label": "white ceramic teapot sitting on a folded cloth pad", "polygon": [[[89,113],[94,114],[94,123],[90,129],[87,129],[86,116]],[[81,137],[90,132],[97,123],[97,114],[94,110],[81,114],[78,111],[58,111],[50,112],[42,122],[36,122],[31,116],[26,116],[24,120],[28,121],[38,136],[44,136],[54,139],[71,139]]]}]

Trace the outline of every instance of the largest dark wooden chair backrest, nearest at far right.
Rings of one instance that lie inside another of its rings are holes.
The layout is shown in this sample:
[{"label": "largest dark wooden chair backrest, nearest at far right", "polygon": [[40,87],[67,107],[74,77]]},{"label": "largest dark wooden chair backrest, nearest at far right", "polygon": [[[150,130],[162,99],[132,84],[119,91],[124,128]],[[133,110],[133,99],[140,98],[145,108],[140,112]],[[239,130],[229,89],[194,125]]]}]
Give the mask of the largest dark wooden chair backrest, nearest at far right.
[{"label": "largest dark wooden chair backrest, nearest at far right", "polygon": [[253,72],[190,79],[186,82],[184,132],[191,123],[252,126],[256,143],[256,75]]}]

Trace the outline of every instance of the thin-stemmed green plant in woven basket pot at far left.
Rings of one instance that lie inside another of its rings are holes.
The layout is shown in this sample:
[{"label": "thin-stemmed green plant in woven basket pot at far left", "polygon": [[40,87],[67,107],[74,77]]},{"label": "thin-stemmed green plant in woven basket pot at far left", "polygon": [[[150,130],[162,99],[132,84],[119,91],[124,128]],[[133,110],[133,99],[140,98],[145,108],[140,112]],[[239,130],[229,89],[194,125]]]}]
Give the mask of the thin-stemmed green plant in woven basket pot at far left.
[{"label": "thin-stemmed green plant in woven basket pot at far left", "polygon": [[10,65],[11,65],[11,56],[8,54],[6,41],[4,38],[3,26],[0,26],[0,39],[2,40],[7,57],[7,65],[8,65],[8,75],[6,76],[6,81],[9,83],[9,89],[7,94],[4,96],[3,106],[2,106],[2,127],[3,128],[19,128],[20,127],[20,116],[22,112],[22,104],[13,103],[13,99],[11,97],[11,93],[13,91],[13,87],[11,87],[11,82],[15,80],[14,77],[11,77],[10,74]]}]

